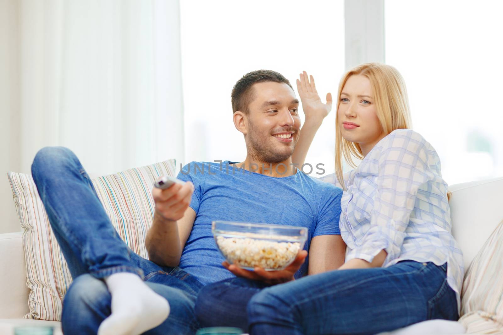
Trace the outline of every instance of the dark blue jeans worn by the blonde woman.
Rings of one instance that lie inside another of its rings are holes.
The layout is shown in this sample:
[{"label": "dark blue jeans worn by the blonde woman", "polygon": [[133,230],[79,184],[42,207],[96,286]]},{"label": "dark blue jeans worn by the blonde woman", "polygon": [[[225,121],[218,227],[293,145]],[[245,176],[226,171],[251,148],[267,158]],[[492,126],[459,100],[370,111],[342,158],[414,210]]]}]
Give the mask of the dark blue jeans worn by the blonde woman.
[{"label": "dark blue jeans worn by the blonde woman", "polygon": [[251,335],[363,335],[429,319],[457,320],[458,310],[447,264],[402,261],[270,287],[232,278],[199,292],[196,315],[202,326],[238,326]]}]

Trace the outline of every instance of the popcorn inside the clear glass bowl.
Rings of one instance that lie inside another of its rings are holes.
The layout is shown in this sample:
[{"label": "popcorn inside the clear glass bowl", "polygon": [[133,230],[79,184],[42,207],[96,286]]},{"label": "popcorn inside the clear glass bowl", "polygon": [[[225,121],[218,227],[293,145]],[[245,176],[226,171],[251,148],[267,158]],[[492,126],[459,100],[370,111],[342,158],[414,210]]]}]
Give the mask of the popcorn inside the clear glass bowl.
[{"label": "popcorn inside the clear glass bowl", "polygon": [[300,250],[299,242],[281,242],[291,240],[291,236],[274,236],[278,241],[271,241],[262,240],[270,239],[270,235],[235,232],[228,232],[226,235],[244,237],[216,237],[218,248],[227,261],[244,268],[259,266],[266,270],[282,270],[295,259]]}]

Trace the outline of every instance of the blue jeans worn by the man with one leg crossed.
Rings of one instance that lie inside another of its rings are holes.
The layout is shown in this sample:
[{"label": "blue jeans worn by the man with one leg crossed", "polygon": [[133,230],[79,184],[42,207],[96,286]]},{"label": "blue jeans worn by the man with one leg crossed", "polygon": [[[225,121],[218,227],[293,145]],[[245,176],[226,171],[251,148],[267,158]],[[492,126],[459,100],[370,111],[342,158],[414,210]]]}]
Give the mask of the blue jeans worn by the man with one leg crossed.
[{"label": "blue jeans worn by the man with one leg crossed", "polygon": [[196,332],[194,305],[203,285],[183,269],[158,266],[127,247],[88,174],[69,149],[41,149],[33,161],[32,175],[73,278],[63,300],[63,332],[97,333],[111,314],[111,296],[103,278],[118,272],[138,274],[170,303],[170,316],[145,334]]}]

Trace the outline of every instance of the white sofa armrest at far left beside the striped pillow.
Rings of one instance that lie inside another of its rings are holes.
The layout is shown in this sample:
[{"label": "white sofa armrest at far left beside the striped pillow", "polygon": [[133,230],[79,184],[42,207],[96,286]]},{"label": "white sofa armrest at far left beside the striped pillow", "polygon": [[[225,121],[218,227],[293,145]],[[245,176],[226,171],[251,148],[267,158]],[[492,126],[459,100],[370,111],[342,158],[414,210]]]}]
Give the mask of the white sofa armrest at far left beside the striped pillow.
[{"label": "white sofa armrest at far left beside the striped pillow", "polygon": [[0,318],[28,313],[28,287],[22,233],[0,234]]}]

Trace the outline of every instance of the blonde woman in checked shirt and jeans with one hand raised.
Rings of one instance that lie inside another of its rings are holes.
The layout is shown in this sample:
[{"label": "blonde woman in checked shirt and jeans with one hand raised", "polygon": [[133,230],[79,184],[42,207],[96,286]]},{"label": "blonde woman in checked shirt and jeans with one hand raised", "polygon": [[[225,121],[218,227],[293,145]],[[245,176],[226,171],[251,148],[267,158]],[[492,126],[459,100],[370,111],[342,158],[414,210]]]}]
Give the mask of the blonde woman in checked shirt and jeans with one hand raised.
[{"label": "blonde woman in checked shirt and jeans with one hand raised", "polygon": [[[328,113],[329,96],[323,104],[312,76],[304,72],[297,86],[306,118]],[[435,149],[410,126],[395,68],[368,63],[343,76],[336,173],[324,180],[344,189],[339,227],[346,262],[254,295],[247,305],[252,335],[375,334],[457,320],[463,258],[451,235],[447,184]],[[315,131],[301,135],[297,163]],[[346,174],[343,157],[354,167]]]}]

